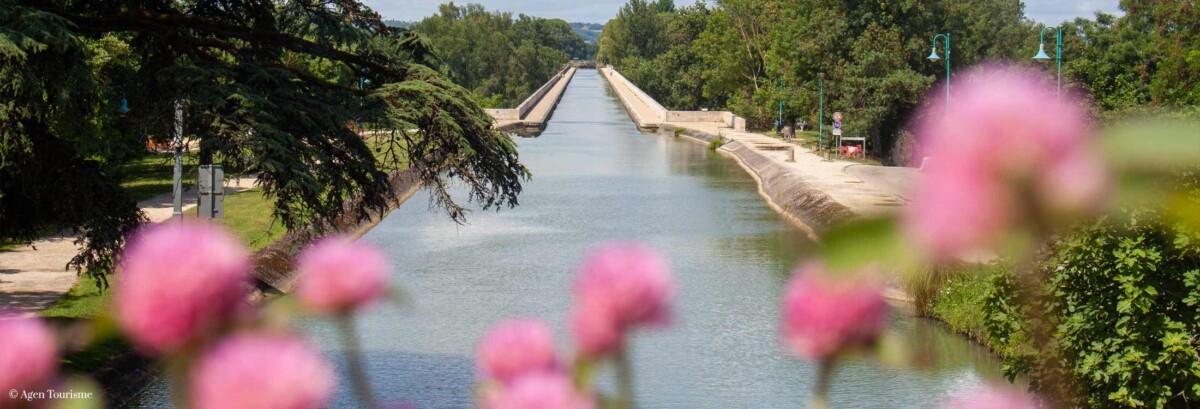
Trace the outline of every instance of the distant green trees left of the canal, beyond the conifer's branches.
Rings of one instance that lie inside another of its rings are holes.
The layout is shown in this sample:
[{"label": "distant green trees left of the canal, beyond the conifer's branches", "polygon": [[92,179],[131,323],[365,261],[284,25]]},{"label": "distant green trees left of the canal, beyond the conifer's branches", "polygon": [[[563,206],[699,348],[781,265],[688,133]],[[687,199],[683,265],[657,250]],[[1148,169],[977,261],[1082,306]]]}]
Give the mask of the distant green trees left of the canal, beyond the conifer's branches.
[{"label": "distant green trees left of the canal, beyond the conifer's branches", "polygon": [[455,83],[488,108],[516,108],[568,61],[594,54],[565,20],[490,12],[478,4],[444,4],[412,29]]}]

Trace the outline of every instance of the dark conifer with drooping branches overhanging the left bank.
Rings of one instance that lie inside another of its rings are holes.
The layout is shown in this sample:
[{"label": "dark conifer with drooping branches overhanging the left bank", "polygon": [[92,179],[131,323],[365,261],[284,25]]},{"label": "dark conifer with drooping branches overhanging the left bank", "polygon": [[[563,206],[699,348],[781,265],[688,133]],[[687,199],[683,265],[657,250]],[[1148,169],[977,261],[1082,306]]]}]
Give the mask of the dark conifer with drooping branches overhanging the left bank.
[{"label": "dark conifer with drooping branches overhanging the left bank", "polygon": [[0,0],[0,239],[73,229],[72,264],[108,271],[143,221],[119,166],[172,139],[176,103],[202,162],[245,163],[288,228],[384,209],[402,166],[456,221],[450,180],[516,205],[515,144],[434,60],[354,0]]}]

